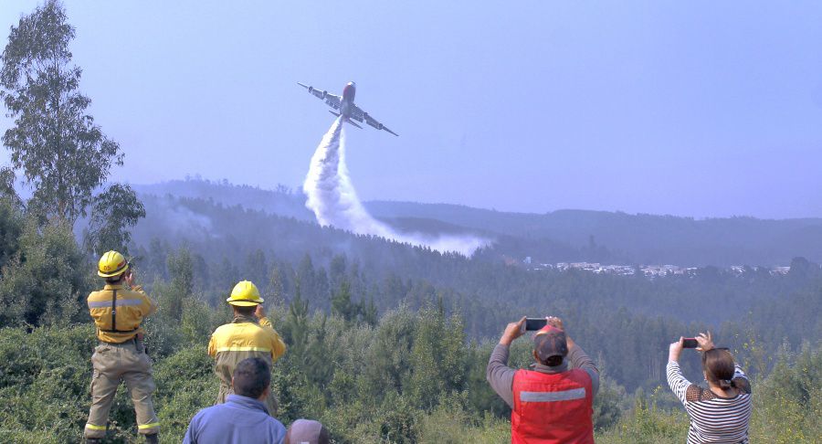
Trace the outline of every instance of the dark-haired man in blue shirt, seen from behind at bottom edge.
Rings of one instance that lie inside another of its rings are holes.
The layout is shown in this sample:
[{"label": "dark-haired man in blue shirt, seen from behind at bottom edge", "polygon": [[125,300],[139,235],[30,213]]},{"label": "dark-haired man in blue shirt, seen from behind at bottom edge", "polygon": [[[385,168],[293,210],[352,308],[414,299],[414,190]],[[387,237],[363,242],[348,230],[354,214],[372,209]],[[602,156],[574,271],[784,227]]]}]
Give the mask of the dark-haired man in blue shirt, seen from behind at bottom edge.
[{"label": "dark-haired man in blue shirt, seen from behind at bottom edge", "polygon": [[271,369],[258,357],[240,361],[231,379],[235,395],[225,404],[207,407],[195,415],[185,432],[184,444],[281,444],[286,429],[269,416],[266,398],[271,389]]}]

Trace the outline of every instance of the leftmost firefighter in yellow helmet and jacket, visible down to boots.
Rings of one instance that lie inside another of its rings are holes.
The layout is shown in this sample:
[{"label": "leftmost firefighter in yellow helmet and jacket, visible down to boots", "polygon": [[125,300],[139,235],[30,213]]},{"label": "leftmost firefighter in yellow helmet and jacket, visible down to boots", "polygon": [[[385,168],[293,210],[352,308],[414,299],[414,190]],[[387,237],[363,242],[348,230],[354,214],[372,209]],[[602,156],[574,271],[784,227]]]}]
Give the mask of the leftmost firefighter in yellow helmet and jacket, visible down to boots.
[{"label": "leftmost firefighter in yellow helmet and jacket, visible down to boots", "polygon": [[[160,421],[154,414],[152,394],[156,389],[152,361],[142,344],[142,319],[157,310],[140,286],[128,261],[117,251],[102,255],[97,274],[106,280],[101,291],[89,295],[89,311],[97,326],[100,344],[94,348],[91,364],[91,410],[83,435],[86,442],[100,442],[106,436],[109,410],[117,387],[125,382],[137,412],[137,430],[146,442],[158,443]],[[128,284],[132,290],[127,290]]]}]

